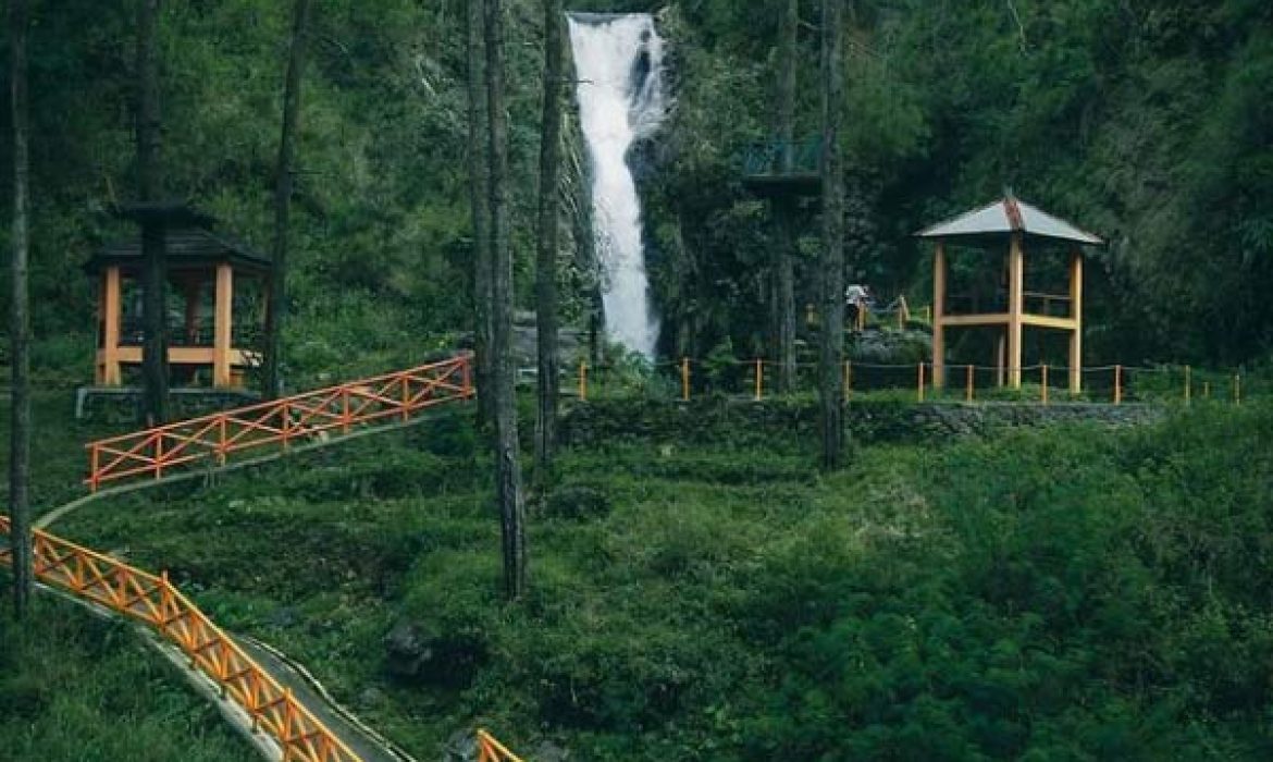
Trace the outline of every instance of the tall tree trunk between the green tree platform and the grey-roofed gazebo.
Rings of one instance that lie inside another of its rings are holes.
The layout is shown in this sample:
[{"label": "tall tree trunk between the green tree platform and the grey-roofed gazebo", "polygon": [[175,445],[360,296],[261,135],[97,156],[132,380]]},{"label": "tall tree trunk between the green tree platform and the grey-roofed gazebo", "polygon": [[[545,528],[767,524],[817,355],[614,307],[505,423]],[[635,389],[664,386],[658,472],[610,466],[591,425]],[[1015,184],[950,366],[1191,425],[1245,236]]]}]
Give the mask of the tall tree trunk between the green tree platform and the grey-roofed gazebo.
[{"label": "tall tree trunk between the green tree platform and the grey-roofed gazebo", "polygon": [[844,163],[840,120],[844,96],[844,0],[822,0],[822,330],[819,403],[822,468],[840,466],[844,438]]}]

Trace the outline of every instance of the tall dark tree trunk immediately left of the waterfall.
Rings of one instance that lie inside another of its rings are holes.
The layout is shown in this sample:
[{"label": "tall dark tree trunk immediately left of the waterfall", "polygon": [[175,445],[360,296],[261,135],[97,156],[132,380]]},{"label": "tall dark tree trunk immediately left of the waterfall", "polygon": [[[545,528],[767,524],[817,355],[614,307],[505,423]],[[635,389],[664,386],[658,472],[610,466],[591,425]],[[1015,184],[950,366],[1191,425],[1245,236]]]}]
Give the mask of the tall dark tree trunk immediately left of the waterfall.
[{"label": "tall dark tree trunk immediately left of the waterfall", "polygon": [[535,473],[544,480],[552,468],[558,413],[558,289],[561,177],[561,88],[565,57],[561,0],[544,0],[544,125],[540,141],[538,250],[535,302],[538,331],[538,408],[535,418]]}]

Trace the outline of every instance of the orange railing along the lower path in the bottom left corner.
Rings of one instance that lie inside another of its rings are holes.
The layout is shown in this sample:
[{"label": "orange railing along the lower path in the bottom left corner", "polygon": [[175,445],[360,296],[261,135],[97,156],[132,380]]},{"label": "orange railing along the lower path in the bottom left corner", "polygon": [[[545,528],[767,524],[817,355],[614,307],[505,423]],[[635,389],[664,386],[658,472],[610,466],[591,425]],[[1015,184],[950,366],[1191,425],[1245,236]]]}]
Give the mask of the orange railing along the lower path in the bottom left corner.
[{"label": "orange railing along the lower path in the bottom left corner", "polygon": [[[0,516],[0,534],[9,534],[5,516]],[[293,698],[290,689],[283,688],[182,595],[167,575],[146,573],[38,529],[33,558],[36,577],[42,582],[145,622],[177,645],[192,668],[220,687],[223,697],[243,707],[253,730],[279,743],[284,761],[360,761]],[[11,561],[8,548],[0,549],[0,563]]]}]

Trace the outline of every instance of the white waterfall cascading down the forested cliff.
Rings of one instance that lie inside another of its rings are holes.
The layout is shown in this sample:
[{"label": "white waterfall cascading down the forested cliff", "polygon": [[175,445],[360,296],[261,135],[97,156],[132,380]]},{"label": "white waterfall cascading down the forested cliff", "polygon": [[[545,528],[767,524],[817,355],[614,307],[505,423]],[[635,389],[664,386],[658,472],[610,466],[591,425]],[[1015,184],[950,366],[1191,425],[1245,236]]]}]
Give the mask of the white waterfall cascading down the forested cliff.
[{"label": "white waterfall cascading down the forested cliff", "polygon": [[579,78],[579,122],[592,161],[592,227],[611,338],[654,357],[658,319],[649,303],[640,199],[628,149],[667,115],[663,41],[649,14],[570,15]]}]

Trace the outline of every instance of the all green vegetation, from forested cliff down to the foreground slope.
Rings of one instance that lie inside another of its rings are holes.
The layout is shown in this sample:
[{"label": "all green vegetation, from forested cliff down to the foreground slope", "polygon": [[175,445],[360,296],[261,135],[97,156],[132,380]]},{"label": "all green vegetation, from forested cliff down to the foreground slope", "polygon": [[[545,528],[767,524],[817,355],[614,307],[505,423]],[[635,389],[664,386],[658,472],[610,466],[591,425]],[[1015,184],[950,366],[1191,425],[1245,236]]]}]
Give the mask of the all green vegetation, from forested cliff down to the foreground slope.
[{"label": "all green vegetation, from forested cliff down to the foreground slope", "polygon": [[[158,20],[165,194],[261,251],[289,5],[169,1]],[[530,310],[542,5],[503,5],[512,306]],[[667,41],[676,107],[630,157],[663,364],[611,352],[611,378],[593,368],[611,399],[589,410],[607,436],[527,474],[524,599],[500,594],[489,432],[468,409],[103,500],[53,530],[169,571],[219,624],[281,647],[421,759],[475,726],[531,759],[541,744],[633,762],[1273,758],[1273,3],[847,3],[847,282],[927,303],[929,251],[911,233],[1011,189],[1109,243],[1085,270],[1085,362],[1102,367],[1087,399],[1113,398],[1115,363],[1134,367],[1129,400],[1162,418],[872,438],[881,423],[834,474],[816,469],[811,427],[782,424],[812,404],[807,375],[756,408],[777,410],[769,423],[721,414],[750,394],[746,363],[773,359],[778,238],[741,163],[774,134],[785,3],[566,5],[656,13]],[[111,213],[137,186],[135,11],[31,0],[36,514],[84,493],[85,441],[131,427],[71,421],[71,389],[92,378],[97,330],[81,265],[137,234]],[[313,3],[289,390],[467,345],[465,11]],[[799,0],[798,136],[819,130],[819,18]],[[9,120],[0,108],[0,134]],[[558,257],[563,325],[583,331],[603,273],[577,121]],[[5,172],[11,150],[0,140]],[[0,182],[0,208],[11,195]],[[821,220],[812,200],[796,217],[806,362]],[[5,252],[10,224],[0,215]],[[978,262],[956,259],[952,278],[995,268]],[[0,268],[4,315],[9,278]],[[922,333],[889,370],[896,389],[859,375],[858,391],[909,409],[900,363],[925,359]],[[1029,354],[1060,377],[1057,347]],[[695,361],[685,409],[671,401],[681,357]],[[1185,364],[1208,368],[1192,377],[1212,399],[1194,387],[1179,404]],[[1037,382],[979,385],[978,400],[1035,400]],[[5,465],[8,405],[0,394]],[[639,433],[668,410],[693,436]],[[129,629],[45,598],[20,626],[0,615],[0,758],[251,758]]]}]

